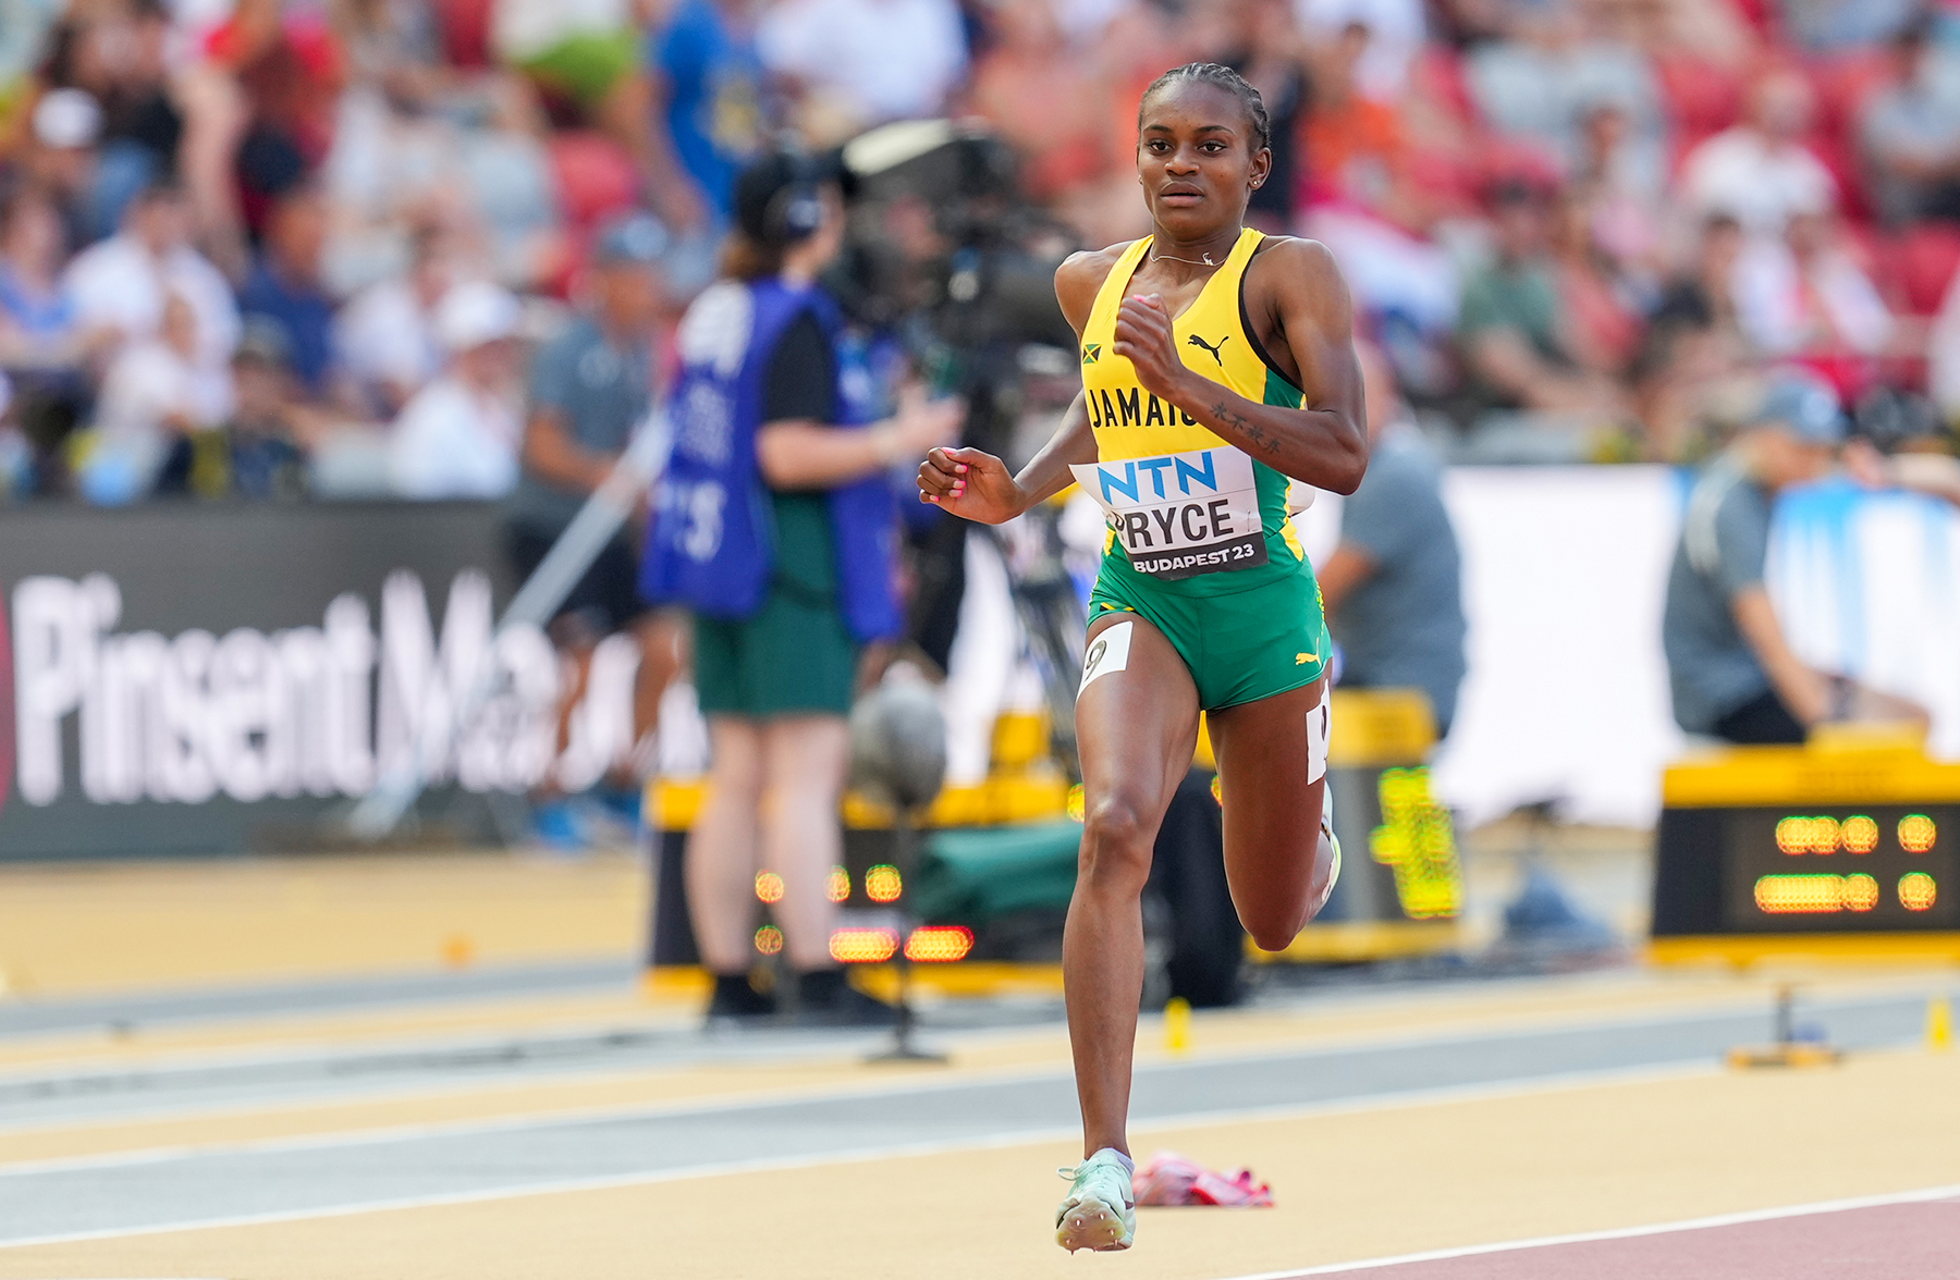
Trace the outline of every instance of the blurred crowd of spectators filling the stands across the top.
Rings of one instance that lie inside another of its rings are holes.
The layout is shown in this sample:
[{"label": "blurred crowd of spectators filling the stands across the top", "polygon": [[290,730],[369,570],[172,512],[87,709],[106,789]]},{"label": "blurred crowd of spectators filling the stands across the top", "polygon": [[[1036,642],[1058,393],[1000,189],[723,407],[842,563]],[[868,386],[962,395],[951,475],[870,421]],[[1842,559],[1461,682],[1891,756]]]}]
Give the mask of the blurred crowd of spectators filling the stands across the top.
[{"label": "blurred crowd of spectators filling the stands across the top", "polygon": [[980,118],[1102,245],[1198,59],[1458,457],[1691,461],[1791,363],[1960,416],[1944,0],[0,0],[0,488],[502,496],[621,216],[659,382],[766,141]]}]

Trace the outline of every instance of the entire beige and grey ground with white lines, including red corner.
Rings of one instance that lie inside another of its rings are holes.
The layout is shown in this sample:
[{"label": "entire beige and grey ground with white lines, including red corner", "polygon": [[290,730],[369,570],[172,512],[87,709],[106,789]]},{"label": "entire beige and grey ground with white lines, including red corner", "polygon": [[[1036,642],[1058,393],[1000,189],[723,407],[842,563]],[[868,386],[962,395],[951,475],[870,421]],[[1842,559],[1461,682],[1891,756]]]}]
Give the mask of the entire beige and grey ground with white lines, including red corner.
[{"label": "entire beige and grey ground with white lines, including red corner", "polygon": [[[1145,1211],[1131,1255],[1070,1260],[1053,992],[935,1004],[949,1066],[866,1066],[874,1035],[704,1035],[696,996],[647,994],[617,866],[0,896],[0,960],[41,984],[0,1002],[0,1280],[1887,1280],[1952,1235],[1938,1194],[1887,1200],[1960,1184],[1960,1055],[1919,1047],[1950,974],[1811,974],[1801,1021],[1854,1053],[1801,1072],[1717,1064],[1770,1029],[1774,984],[1729,972],[1268,992],[1184,1055],[1145,1019],[1139,1153],[1250,1164],[1278,1207]],[[480,955],[443,972],[457,933]]]}]

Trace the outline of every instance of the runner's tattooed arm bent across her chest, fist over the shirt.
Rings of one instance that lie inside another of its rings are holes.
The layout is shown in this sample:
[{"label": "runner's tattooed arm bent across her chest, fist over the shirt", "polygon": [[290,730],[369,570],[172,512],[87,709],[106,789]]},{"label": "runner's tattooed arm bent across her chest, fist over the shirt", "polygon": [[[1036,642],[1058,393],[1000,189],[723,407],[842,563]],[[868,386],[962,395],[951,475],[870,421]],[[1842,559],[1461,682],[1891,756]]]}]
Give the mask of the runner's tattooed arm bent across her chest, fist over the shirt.
[{"label": "runner's tattooed arm bent across her chest, fist over the shirt", "polygon": [[1272,318],[1307,408],[1258,404],[1190,369],[1156,294],[1123,300],[1113,351],[1129,357],[1147,392],[1168,398],[1260,463],[1315,488],[1352,494],[1368,470],[1368,416],[1354,359],[1354,310],[1333,255],[1307,239],[1274,241],[1247,269],[1247,310],[1254,323],[1262,312]]}]

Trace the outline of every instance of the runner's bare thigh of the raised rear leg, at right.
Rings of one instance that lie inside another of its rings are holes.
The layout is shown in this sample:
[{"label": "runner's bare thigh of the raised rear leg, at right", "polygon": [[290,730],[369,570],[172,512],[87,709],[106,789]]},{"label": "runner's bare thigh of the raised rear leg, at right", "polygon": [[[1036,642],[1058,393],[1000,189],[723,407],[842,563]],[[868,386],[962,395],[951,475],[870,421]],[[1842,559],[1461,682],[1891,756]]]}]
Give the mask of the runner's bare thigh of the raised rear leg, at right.
[{"label": "runner's bare thigh of the raised rear leg, at right", "polygon": [[1323,676],[1207,717],[1225,806],[1225,874],[1241,904],[1307,896],[1327,784],[1327,761],[1311,759],[1325,686]]}]

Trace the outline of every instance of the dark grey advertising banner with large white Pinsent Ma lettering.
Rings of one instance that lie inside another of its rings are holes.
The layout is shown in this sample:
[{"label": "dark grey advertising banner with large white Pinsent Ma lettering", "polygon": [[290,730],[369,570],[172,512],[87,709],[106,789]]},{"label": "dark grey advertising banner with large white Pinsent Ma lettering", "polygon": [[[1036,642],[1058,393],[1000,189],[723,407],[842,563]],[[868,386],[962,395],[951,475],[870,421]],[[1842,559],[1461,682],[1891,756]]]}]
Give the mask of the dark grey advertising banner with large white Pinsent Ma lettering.
[{"label": "dark grey advertising banner with large white Pinsent Ma lettering", "polygon": [[637,651],[604,645],[561,749],[549,639],[494,631],[510,588],[492,504],[0,514],[0,859],[314,843],[417,764],[478,829],[588,786],[631,749]]}]

